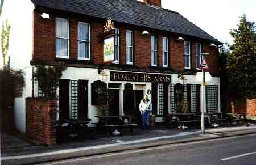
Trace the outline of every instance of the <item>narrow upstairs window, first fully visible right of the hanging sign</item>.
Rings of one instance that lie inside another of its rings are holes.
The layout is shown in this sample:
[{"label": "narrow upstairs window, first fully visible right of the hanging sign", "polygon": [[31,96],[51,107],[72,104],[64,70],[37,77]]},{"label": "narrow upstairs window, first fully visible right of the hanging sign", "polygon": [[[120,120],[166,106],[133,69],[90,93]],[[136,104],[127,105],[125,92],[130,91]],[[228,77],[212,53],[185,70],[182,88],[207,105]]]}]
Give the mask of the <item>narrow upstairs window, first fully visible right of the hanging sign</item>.
[{"label": "narrow upstairs window, first fully visible right of the hanging sign", "polygon": [[126,31],[126,64],[133,64],[133,32]]}]

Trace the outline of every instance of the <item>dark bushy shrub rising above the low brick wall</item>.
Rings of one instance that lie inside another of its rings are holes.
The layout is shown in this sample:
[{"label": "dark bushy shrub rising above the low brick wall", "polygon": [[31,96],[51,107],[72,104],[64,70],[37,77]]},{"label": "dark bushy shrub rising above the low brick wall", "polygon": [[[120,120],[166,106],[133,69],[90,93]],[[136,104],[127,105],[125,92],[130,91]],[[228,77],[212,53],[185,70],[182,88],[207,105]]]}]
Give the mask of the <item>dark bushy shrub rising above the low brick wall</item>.
[{"label": "dark bushy shrub rising above the low brick wall", "polygon": [[35,80],[38,81],[38,86],[42,90],[45,99],[55,99],[56,89],[59,87],[59,79],[62,77],[63,71],[65,71],[63,62],[59,62],[54,66],[46,66],[43,61],[40,61],[36,65],[36,71],[34,72]]}]

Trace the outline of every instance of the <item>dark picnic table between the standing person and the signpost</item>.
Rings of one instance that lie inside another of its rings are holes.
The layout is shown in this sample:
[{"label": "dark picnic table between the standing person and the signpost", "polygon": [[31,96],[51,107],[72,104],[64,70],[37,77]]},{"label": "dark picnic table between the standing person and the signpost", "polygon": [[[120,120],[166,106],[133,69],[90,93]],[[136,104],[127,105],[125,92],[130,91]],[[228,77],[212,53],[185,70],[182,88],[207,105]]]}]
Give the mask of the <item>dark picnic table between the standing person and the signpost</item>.
[{"label": "dark picnic table between the standing person and the signpost", "polygon": [[172,113],[166,115],[166,124],[169,126],[173,121],[176,121],[179,125],[179,128],[183,130],[184,123],[200,122],[200,118],[195,115],[195,113]]}]

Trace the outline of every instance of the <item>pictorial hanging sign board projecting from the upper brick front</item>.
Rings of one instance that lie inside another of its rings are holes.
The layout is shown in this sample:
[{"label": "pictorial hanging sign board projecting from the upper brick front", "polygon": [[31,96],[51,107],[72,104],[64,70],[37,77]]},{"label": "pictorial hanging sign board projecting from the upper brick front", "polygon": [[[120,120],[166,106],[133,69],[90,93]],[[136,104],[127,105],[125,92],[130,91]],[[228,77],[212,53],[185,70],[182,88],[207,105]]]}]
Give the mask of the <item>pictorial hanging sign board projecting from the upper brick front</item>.
[{"label": "pictorial hanging sign board projecting from the upper brick front", "polygon": [[104,39],[104,63],[114,61],[114,37]]}]

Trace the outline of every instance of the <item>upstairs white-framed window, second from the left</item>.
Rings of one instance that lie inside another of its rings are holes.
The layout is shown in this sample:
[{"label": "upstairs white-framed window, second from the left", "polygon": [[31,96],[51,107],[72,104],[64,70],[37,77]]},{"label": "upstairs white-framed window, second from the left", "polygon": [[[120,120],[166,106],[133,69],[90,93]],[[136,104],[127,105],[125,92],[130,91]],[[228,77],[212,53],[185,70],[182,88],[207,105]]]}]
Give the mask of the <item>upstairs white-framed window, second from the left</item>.
[{"label": "upstairs white-framed window, second from the left", "polygon": [[78,59],[90,60],[90,24],[79,22],[78,23]]}]

